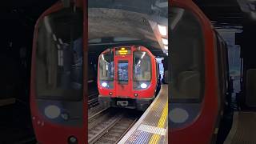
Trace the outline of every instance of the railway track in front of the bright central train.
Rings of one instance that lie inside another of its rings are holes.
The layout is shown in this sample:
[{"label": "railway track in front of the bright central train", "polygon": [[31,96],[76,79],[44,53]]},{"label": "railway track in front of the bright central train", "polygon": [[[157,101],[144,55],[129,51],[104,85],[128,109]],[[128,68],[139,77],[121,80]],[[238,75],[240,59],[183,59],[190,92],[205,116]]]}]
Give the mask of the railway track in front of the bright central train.
[{"label": "railway track in front of the bright central train", "polygon": [[117,143],[141,114],[109,108],[88,119],[88,143]]}]

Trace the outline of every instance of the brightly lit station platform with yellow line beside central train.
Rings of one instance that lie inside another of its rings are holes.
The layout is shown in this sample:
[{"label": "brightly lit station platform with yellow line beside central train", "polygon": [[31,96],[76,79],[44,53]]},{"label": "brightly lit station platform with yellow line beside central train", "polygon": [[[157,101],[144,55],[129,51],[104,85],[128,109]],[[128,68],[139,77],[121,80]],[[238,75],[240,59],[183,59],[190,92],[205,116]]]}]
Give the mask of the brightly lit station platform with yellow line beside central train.
[{"label": "brightly lit station platform with yellow line beside central train", "polygon": [[167,116],[168,85],[162,85],[154,102],[118,143],[168,143]]}]

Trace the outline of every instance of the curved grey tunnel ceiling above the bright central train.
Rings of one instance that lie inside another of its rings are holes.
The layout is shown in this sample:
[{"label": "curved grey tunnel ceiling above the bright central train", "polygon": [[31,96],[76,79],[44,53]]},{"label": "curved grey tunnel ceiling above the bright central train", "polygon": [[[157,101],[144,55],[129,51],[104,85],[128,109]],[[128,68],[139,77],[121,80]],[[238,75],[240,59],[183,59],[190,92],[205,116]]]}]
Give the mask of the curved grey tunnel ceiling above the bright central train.
[{"label": "curved grey tunnel ceiling above the bright central train", "polygon": [[96,54],[106,47],[121,43],[114,39],[135,38],[136,40],[122,43],[134,42],[149,48],[155,56],[166,56],[154,27],[155,23],[164,26],[168,24],[167,0],[89,0],[88,6],[88,38],[105,40],[92,43],[90,53]]}]

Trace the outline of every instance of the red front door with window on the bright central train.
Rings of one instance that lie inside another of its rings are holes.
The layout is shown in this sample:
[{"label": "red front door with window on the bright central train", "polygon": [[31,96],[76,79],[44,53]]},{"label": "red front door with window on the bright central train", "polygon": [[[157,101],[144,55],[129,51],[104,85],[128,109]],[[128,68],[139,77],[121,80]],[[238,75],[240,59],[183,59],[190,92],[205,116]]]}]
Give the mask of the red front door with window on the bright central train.
[{"label": "red front door with window on the bright central train", "polygon": [[[115,58],[115,92],[117,97],[129,98],[131,95],[131,72],[132,63],[129,56]],[[128,102],[117,102],[117,105],[128,106]]]}]

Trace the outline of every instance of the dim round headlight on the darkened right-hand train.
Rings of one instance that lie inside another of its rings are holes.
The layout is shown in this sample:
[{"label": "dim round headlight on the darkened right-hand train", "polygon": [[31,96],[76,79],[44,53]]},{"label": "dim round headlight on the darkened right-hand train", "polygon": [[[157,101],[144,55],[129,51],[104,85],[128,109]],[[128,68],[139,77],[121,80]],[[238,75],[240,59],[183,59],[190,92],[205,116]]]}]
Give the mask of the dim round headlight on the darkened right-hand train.
[{"label": "dim round headlight on the darkened right-hand train", "polygon": [[183,123],[189,118],[189,114],[184,109],[175,108],[174,110],[170,110],[169,118],[174,123]]}]

